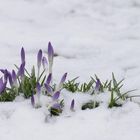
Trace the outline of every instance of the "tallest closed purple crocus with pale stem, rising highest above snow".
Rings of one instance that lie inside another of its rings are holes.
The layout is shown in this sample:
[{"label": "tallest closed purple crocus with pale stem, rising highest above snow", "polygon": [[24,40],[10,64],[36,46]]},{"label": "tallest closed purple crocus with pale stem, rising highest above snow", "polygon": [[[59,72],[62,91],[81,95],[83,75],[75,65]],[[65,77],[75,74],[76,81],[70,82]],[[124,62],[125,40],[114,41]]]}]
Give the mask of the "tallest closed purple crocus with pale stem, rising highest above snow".
[{"label": "tallest closed purple crocus with pale stem, rising highest above snow", "polygon": [[53,57],[54,57],[54,50],[51,43],[49,42],[48,44],[49,73],[52,73]]}]

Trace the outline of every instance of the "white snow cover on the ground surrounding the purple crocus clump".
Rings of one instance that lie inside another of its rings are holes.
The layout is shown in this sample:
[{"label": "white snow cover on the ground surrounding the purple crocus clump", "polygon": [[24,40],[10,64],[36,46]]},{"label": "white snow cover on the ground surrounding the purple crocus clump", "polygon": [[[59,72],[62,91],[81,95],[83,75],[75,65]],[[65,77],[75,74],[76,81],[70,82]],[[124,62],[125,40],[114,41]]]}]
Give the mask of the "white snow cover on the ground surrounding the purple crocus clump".
[{"label": "white snow cover on the ground surrounding the purple crocus clump", "polygon": [[[0,67],[19,64],[20,48],[27,52],[28,68],[36,52],[51,41],[55,58],[54,77],[80,76],[86,81],[95,73],[109,79],[114,72],[125,78],[124,90],[140,94],[140,1],[139,0],[0,0]],[[87,96],[66,94],[79,102]],[[73,97],[74,96],[74,97]],[[140,101],[140,99],[137,99]],[[68,110],[68,106],[67,109]],[[140,107],[65,112],[44,122],[45,109],[35,110],[30,101],[0,103],[0,140],[139,140]]]}]

